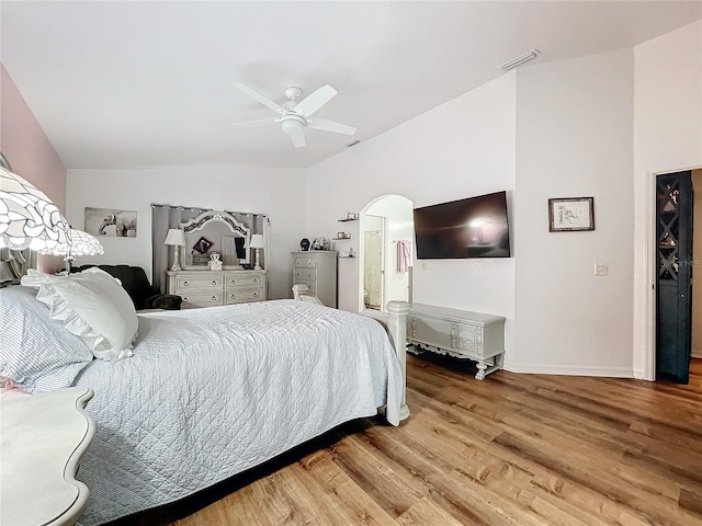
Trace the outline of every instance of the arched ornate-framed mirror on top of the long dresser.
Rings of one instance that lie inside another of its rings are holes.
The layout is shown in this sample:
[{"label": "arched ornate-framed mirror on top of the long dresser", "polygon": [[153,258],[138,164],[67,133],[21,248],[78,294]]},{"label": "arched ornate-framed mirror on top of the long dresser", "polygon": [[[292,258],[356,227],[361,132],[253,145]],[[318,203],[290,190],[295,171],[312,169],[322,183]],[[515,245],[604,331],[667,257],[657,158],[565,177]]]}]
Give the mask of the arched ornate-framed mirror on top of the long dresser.
[{"label": "arched ornate-framed mirror on top of the long dresser", "polygon": [[184,270],[207,270],[212,254],[219,254],[223,268],[248,265],[251,230],[226,211],[207,210],[180,228],[185,238]]}]

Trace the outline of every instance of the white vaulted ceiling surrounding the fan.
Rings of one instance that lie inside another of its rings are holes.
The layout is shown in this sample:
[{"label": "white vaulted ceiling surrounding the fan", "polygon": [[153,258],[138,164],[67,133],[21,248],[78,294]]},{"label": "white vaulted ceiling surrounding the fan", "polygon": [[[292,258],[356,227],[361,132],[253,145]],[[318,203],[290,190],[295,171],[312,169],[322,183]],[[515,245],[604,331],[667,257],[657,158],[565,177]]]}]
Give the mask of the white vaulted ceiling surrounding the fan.
[{"label": "white vaulted ceiling surrounding the fan", "polygon": [[[500,75],[632,47],[702,18],[702,1],[2,1],[0,58],[64,164],[302,168]],[[339,94],[295,149],[274,114],[288,85]]]}]

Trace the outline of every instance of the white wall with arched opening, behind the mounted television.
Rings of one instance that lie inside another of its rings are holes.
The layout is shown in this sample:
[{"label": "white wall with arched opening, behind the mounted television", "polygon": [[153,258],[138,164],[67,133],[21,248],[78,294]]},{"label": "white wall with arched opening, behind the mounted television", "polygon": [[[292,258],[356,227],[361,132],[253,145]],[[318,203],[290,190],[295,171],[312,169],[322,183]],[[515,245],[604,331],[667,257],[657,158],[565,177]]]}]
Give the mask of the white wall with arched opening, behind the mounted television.
[{"label": "white wall with arched opening, behind the mounted television", "polygon": [[[506,75],[312,167],[307,202],[320,206],[307,209],[308,237],[331,237],[341,214],[385,194],[403,195],[415,206],[502,190],[511,199],[514,101],[514,75]],[[415,267],[412,287],[416,302],[507,317],[509,362],[514,259],[430,261],[426,271]],[[347,260],[339,265],[339,307],[356,311],[358,290],[358,263]]]}]

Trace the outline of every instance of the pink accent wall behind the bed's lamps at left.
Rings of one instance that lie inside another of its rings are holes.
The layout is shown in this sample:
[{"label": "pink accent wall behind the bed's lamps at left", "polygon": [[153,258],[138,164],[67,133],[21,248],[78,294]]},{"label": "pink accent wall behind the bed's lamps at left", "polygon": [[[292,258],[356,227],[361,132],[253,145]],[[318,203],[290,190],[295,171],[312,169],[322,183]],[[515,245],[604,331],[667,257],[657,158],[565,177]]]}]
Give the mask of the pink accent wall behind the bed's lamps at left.
[{"label": "pink accent wall behind the bed's lamps at left", "polygon": [[[0,64],[0,150],[12,171],[44,192],[61,211],[66,210],[66,167],[34,117],[22,93]],[[55,272],[60,258],[39,256],[38,267]]]}]

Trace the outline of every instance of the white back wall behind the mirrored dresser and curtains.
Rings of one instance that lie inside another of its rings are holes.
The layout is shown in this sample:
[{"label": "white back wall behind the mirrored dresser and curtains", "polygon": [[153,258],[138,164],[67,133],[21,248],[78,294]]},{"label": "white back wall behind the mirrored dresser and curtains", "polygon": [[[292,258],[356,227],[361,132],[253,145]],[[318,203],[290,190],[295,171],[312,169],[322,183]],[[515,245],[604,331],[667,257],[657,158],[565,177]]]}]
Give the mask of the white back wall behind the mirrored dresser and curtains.
[{"label": "white back wall behind the mirrored dresser and curtains", "polygon": [[291,255],[304,233],[305,192],[299,170],[161,168],[69,170],[67,219],[83,227],[84,207],[136,210],[136,238],[100,238],[105,253],[88,263],[144,267],[151,278],[151,203],[265,214],[271,221],[269,297],[292,297]]}]

